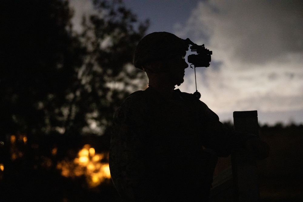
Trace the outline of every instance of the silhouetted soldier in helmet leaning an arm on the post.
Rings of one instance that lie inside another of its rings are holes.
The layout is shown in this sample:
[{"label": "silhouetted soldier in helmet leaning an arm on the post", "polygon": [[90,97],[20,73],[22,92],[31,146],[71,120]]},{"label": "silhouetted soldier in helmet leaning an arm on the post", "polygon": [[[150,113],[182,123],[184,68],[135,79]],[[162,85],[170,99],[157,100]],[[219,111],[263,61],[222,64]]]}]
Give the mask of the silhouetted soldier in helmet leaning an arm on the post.
[{"label": "silhouetted soldier in helmet leaning an arm on the post", "polygon": [[137,46],[135,67],[146,72],[149,87],[116,111],[109,156],[123,201],[208,201],[217,156],[235,148],[268,155],[257,136],[228,130],[193,94],[174,90],[184,81],[186,50],[167,32],[151,33]]}]

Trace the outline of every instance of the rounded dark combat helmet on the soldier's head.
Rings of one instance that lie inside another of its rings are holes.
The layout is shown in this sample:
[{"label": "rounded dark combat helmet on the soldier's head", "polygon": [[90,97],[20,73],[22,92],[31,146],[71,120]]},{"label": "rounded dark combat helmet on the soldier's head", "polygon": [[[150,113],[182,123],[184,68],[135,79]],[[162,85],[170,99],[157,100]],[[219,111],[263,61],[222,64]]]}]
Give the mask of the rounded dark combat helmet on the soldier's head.
[{"label": "rounded dark combat helmet on the soldier's head", "polygon": [[153,32],[139,41],[135,50],[134,65],[143,69],[145,63],[186,55],[188,44],[169,32]]}]

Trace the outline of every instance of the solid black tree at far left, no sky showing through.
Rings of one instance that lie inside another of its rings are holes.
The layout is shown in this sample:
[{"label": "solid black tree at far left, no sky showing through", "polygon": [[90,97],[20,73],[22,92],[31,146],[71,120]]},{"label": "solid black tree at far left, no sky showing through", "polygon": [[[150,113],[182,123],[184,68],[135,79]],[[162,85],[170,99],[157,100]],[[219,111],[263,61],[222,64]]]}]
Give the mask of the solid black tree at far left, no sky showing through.
[{"label": "solid black tree at far left, no sky showing through", "polygon": [[68,28],[68,2],[1,5],[1,133],[45,134],[84,54]]}]

